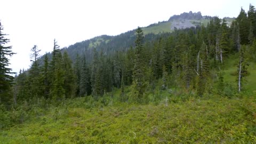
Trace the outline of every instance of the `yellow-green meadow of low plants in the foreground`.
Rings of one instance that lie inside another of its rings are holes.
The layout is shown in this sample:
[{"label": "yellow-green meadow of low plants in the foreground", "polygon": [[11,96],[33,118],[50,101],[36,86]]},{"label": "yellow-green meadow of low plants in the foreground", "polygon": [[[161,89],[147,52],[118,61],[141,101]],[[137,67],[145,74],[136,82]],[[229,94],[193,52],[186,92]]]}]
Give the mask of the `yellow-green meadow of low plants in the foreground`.
[{"label": "yellow-green meadow of low plants in the foreground", "polygon": [[[38,110],[40,111],[40,110]],[[40,112],[39,112],[40,113]],[[254,143],[256,99],[169,97],[92,107],[77,98],[0,132],[0,143]]]}]

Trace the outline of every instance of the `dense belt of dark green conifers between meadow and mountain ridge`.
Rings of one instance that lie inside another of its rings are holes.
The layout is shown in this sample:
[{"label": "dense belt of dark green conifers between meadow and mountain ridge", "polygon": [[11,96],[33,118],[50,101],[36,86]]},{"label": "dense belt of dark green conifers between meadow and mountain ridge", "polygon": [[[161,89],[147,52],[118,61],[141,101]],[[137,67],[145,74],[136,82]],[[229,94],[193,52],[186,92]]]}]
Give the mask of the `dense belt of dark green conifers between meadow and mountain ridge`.
[{"label": "dense belt of dark green conifers between meadow and mountain ridge", "polygon": [[[8,50],[11,47],[2,46],[7,41],[4,35],[0,36],[1,54],[12,55]],[[1,61],[1,78],[4,79],[1,82],[8,84],[1,85],[1,102],[6,98],[22,102],[42,97],[61,102],[87,95],[99,99],[115,88],[122,91],[121,101],[142,102],[149,93],[154,95],[159,83],[161,90],[175,87],[199,97],[213,93],[213,85],[217,83],[221,94],[225,86],[222,65],[230,54],[236,53],[239,53],[237,85],[240,92],[247,74],[247,60],[255,60],[255,37],[256,11],[250,5],[247,13],[241,9],[230,27],[225,19],[213,17],[206,27],[175,30],[172,34],[159,35],[154,41],[147,41],[138,28],[130,49],[107,53],[104,47],[100,50],[92,47],[91,55],[76,53],[75,62],[70,60],[66,49],[59,49],[54,39],[53,51],[42,57],[42,65],[38,63],[38,47],[31,49],[31,68],[20,70],[15,78],[13,98],[11,94],[5,96],[11,89],[12,77],[7,75],[11,73],[5,67],[8,61]],[[126,38],[120,42],[125,43]],[[124,92],[127,86],[131,89],[128,95]]]}]

